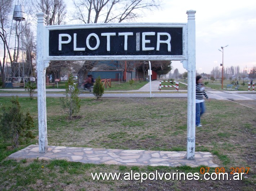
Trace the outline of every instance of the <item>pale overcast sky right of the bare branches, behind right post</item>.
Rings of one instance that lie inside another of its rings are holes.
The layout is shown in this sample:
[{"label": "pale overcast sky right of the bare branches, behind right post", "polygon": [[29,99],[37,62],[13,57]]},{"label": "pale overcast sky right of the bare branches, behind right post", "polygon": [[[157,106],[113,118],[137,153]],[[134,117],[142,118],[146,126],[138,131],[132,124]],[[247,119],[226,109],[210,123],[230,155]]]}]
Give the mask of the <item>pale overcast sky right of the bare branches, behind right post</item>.
[{"label": "pale overcast sky right of the bare branches, behind right post", "polygon": [[[187,10],[197,11],[196,69],[210,73],[222,63],[240,69],[256,66],[256,0],[163,0],[162,10],[143,18],[143,22],[187,22]],[[180,62],[173,64],[183,73]]]}]

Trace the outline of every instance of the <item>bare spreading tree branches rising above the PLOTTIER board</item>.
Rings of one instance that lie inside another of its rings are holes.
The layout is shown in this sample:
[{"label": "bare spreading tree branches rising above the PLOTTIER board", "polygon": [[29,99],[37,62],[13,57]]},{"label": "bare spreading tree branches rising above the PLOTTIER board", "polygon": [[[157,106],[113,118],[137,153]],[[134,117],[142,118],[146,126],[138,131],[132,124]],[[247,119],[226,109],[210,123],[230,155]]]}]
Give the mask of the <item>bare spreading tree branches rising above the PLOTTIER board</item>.
[{"label": "bare spreading tree branches rising above the PLOTTIER board", "polygon": [[73,0],[73,20],[81,23],[109,23],[135,20],[145,10],[160,6],[159,0]]}]

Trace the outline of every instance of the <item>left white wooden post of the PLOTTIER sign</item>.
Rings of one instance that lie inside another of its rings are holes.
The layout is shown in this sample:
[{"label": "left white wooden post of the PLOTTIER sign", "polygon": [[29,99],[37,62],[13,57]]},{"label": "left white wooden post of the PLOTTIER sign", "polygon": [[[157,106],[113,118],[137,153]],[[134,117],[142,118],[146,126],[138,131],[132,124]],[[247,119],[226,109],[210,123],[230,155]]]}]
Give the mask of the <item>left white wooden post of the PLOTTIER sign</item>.
[{"label": "left white wooden post of the PLOTTIER sign", "polygon": [[36,45],[36,69],[37,69],[37,106],[38,106],[38,130],[39,153],[47,152],[47,117],[46,117],[46,93],[45,73],[49,61],[44,58],[45,49],[45,18],[46,14],[38,13],[37,16],[37,45]]}]

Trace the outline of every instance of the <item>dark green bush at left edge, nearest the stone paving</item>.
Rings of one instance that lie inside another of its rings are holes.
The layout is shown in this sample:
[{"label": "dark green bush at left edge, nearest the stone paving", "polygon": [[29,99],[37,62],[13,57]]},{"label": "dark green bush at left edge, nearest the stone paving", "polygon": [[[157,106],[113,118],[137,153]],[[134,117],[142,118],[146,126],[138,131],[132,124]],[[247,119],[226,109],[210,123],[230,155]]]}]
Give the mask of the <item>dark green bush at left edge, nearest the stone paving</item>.
[{"label": "dark green bush at left edge, nearest the stone paving", "polygon": [[34,127],[34,121],[28,112],[23,114],[18,96],[16,99],[12,98],[11,102],[12,105],[9,108],[2,108],[0,130],[5,141],[11,140],[12,146],[17,148],[24,141],[28,143],[30,138],[35,138],[30,131],[30,128]]}]

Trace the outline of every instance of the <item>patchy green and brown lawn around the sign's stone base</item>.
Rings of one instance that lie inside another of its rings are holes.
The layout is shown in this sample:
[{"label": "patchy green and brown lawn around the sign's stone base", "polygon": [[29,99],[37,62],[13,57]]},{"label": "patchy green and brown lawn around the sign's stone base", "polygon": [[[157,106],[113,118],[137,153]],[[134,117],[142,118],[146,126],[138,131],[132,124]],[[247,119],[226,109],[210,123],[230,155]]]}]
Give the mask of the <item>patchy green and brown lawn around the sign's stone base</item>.
[{"label": "patchy green and brown lawn around the sign's stone base", "polygon": [[[0,97],[0,106],[11,98]],[[24,112],[34,116],[37,100],[19,98]],[[255,101],[239,101],[256,108]],[[206,102],[203,127],[196,128],[196,148],[211,152],[214,163],[231,172],[250,167],[243,180],[93,180],[91,172],[184,172],[199,173],[200,167],[140,167],[83,164],[65,160],[10,160],[16,152],[0,136],[0,190],[254,190],[256,111],[231,101]],[[47,98],[48,144],[110,149],[185,151],[187,136],[186,98],[93,98],[81,99],[81,118],[67,120],[58,98]],[[30,144],[35,144],[34,139]],[[19,149],[27,145],[21,145]],[[210,171],[215,172],[214,168]],[[202,174],[200,175],[202,177]]]}]

